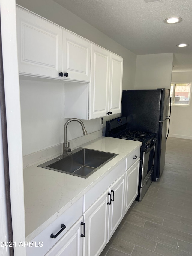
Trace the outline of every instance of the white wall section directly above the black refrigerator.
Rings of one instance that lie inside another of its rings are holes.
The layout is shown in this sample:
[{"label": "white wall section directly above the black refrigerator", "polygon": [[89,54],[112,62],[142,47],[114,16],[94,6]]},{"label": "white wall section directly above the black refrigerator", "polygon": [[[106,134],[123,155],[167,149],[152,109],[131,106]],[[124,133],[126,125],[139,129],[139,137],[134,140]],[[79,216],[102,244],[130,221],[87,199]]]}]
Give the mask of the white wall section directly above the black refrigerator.
[{"label": "white wall section directly above the black refrigerator", "polygon": [[173,53],[137,55],[135,89],[170,89]]}]

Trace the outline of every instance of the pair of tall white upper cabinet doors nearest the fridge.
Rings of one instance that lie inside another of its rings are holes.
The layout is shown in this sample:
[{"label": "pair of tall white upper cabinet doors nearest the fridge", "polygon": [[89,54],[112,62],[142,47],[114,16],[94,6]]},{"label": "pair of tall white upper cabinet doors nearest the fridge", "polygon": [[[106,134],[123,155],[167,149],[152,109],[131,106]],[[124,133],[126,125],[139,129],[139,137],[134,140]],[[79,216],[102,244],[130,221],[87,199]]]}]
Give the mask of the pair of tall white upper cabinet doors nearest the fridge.
[{"label": "pair of tall white upper cabinet doors nearest the fridge", "polygon": [[121,113],[123,58],[92,44],[89,119]]}]

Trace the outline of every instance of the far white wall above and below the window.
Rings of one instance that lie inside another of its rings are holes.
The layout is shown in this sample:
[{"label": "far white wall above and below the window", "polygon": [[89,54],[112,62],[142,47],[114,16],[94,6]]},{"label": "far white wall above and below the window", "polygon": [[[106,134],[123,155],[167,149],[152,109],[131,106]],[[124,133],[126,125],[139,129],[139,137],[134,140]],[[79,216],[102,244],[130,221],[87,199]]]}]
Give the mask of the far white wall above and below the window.
[{"label": "far white wall above and below the window", "polygon": [[[192,82],[192,72],[173,72],[172,82]],[[192,139],[192,102],[190,106],[172,106],[170,137]]]}]

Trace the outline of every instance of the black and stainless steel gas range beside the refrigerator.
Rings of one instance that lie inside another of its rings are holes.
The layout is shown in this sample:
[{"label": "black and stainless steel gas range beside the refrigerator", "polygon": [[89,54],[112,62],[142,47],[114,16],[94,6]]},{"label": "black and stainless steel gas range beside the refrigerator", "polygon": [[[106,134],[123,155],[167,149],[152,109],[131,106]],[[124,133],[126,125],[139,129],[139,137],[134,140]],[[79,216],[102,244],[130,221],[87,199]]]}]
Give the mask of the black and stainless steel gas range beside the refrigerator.
[{"label": "black and stainless steel gas range beside the refrigerator", "polygon": [[156,134],[146,131],[131,131],[126,127],[127,118],[125,116],[120,116],[107,121],[105,136],[124,140],[141,141],[143,143],[140,150],[138,195],[135,199],[141,201],[152,182]]}]

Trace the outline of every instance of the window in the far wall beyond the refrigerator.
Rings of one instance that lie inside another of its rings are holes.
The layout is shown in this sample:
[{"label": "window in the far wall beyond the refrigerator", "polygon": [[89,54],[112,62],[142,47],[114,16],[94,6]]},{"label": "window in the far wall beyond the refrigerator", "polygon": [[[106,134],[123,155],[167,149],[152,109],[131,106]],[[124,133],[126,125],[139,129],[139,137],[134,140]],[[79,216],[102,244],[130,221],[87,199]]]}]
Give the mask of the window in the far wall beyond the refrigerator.
[{"label": "window in the far wall beyond the refrigerator", "polygon": [[172,83],[171,101],[172,105],[190,105],[191,83]]}]

